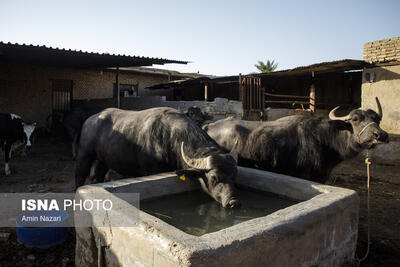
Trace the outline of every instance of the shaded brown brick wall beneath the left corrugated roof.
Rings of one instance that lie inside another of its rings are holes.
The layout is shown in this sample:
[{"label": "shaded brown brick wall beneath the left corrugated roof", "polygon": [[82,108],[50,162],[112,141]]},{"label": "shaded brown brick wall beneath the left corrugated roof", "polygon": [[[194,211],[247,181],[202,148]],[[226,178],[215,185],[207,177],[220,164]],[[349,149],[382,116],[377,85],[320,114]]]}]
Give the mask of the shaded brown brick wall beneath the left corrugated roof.
[{"label": "shaded brown brick wall beneath the left corrugated roof", "polygon": [[[0,112],[20,115],[25,121],[46,126],[52,113],[52,80],[72,81],[73,99],[113,97],[115,72],[71,68],[0,64]],[[122,84],[139,84],[139,95],[151,94],[144,88],[168,81],[166,75],[123,72]]]}]

